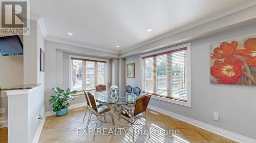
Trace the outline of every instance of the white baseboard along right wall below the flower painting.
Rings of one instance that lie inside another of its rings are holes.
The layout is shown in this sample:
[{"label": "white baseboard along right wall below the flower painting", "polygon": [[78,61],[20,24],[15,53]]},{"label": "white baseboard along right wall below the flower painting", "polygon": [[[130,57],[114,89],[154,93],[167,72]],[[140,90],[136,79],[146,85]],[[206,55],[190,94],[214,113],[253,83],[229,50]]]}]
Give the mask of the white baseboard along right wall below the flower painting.
[{"label": "white baseboard along right wall below the flower painting", "polygon": [[242,136],[240,134],[233,133],[233,132],[230,132],[230,131],[227,131],[227,130],[224,130],[224,129],[221,129],[221,128],[218,128],[218,127],[215,127],[215,126],[212,126],[212,125],[194,120],[194,119],[190,119],[190,118],[187,118],[185,116],[179,115],[179,114],[171,112],[171,111],[161,109],[161,108],[153,106],[153,105],[148,105],[147,107],[152,109],[152,110],[163,113],[164,115],[176,118],[176,119],[181,120],[183,122],[186,122],[188,124],[191,124],[191,125],[197,126],[199,128],[202,128],[204,130],[216,133],[218,135],[224,136],[224,137],[232,139],[234,141],[244,142],[244,143],[255,143],[256,142],[256,140],[254,140],[252,138],[245,137],[245,136]]}]

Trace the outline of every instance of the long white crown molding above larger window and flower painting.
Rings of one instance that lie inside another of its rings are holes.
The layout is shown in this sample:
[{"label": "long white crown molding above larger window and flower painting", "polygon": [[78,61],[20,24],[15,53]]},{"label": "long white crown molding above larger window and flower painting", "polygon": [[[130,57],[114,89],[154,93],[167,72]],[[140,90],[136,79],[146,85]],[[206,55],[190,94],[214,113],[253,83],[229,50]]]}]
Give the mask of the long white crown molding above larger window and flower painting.
[{"label": "long white crown molding above larger window and flower painting", "polygon": [[219,19],[219,18],[222,18],[224,16],[227,16],[227,15],[239,12],[241,10],[250,8],[250,7],[255,6],[255,5],[256,5],[256,1],[253,1],[253,0],[246,1],[246,2],[244,2],[242,4],[237,5],[237,6],[230,7],[229,9],[227,9],[225,11],[218,12],[218,13],[212,15],[212,16],[208,16],[208,17],[203,18],[201,20],[195,21],[195,22],[193,22],[191,24],[187,24],[185,26],[182,26],[182,27],[180,27],[180,28],[178,28],[178,29],[176,29],[174,31],[170,31],[168,33],[165,33],[165,34],[162,34],[162,35],[157,36],[155,38],[152,38],[150,40],[147,40],[145,42],[142,42],[142,43],[136,44],[134,46],[131,46],[131,47],[129,47],[126,50],[122,50],[120,52],[120,54],[125,53],[127,51],[131,51],[131,50],[136,49],[136,48],[139,48],[141,46],[144,46],[144,45],[156,42],[158,40],[162,40],[162,39],[164,39],[166,37],[170,37],[170,36],[173,36],[175,34],[178,34],[178,33],[181,33],[181,32],[187,31],[187,30],[190,30],[191,28],[195,28],[195,27],[200,26],[202,24],[214,21],[216,19]]}]

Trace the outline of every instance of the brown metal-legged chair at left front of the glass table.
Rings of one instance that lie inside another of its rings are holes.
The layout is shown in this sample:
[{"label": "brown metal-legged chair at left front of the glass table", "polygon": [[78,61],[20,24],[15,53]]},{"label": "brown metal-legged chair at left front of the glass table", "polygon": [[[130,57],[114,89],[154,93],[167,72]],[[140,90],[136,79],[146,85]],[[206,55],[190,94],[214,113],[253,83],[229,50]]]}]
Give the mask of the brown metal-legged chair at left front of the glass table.
[{"label": "brown metal-legged chair at left front of the glass table", "polygon": [[90,92],[87,92],[87,96],[89,97],[89,100],[90,100],[90,103],[91,103],[91,107],[92,107],[92,113],[89,117],[89,121],[87,123],[87,126],[86,126],[86,129],[88,128],[88,125],[90,122],[92,121],[95,121],[95,120],[91,120],[92,118],[92,114],[94,114],[96,116],[96,126],[95,126],[95,131],[94,131],[94,136],[93,136],[93,139],[95,138],[95,133],[96,133],[96,130],[97,130],[97,124],[98,124],[98,121],[100,121],[102,123],[101,120],[98,120],[98,117],[99,116],[106,116],[110,113],[110,106],[108,105],[103,105],[101,107],[98,107],[96,102],[95,102],[95,99],[94,99],[94,96],[90,93]]}]

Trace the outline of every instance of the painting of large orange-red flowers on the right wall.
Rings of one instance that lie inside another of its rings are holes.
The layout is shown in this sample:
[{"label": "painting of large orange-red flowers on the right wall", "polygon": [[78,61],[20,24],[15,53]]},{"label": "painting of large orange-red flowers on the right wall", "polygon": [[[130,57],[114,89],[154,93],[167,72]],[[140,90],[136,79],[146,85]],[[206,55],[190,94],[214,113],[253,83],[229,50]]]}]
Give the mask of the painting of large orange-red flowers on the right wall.
[{"label": "painting of large orange-red flowers on the right wall", "polygon": [[210,82],[256,85],[256,35],[210,45]]}]

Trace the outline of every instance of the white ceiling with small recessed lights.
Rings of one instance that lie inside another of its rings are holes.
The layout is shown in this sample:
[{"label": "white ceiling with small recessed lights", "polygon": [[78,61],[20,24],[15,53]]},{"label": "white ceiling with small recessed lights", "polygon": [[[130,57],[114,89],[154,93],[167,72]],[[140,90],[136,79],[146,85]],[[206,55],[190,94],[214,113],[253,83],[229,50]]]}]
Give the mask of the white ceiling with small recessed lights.
[{"label": "white ceiling with small recessed lights", "polygon": [[245,1],[33,0],[30,7],[44,18],[48,37],[122,53]]}]

